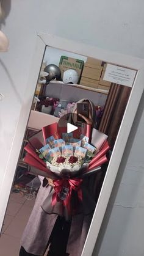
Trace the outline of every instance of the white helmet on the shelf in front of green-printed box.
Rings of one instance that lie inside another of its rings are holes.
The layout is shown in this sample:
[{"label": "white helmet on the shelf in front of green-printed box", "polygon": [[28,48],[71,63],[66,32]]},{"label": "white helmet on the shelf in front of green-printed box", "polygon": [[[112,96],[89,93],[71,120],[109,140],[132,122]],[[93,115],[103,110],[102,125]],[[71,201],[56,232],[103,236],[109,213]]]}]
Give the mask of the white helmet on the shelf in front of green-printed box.
[{"label": "white helmet on the shelf in front of green-printed box", "polygon": [[79,75],[76,70],[68,69],[63,72],[63,82],[65,82],[65,84],[68,84],[69,82],[71,84],[77,84],[78,81]]}]

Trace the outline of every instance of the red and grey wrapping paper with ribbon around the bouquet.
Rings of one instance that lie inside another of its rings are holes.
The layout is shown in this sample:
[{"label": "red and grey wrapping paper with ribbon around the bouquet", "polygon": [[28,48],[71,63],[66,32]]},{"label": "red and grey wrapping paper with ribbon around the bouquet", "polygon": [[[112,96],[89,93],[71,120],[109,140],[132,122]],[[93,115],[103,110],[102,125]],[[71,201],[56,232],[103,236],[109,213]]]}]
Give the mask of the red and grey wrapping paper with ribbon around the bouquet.
[{"label": "red and grey wrapping paper with ribbon around the bouquet", "polygon": [[[95,209],[95,198],[92,197],[89,189],[87,189],[90,179],[85,178],[85,176],[93,174],[94,172],[98,172],[101,169],[101,165],[107,162],[106,153],[110,147],[106,142],[107,136],[105,134],[99,133],[97,130],[92,130],[92,126],[90,125],[85,124],[83,126],[79,126],[76,131],[73,131],[73,137],[78,137],[79,134],[84,134],[91,139],[92,134],[93,145],[98,148],[99,152],[92,159],[89,167],[86,166],[84,170],[79,169],[76,174],[74,174],[73,172],[73,174],[76,175],[75,178],[72,177],[72,172],[70,174],[70,170],[63,170],[63,172],[60,172],[61,176],[55,175],[53,172],[51,172],[51,170],[46,167],[46,163],[43,161],[43,159],[39,158],[35,150],[43,147],[46,138],[50,136],[60,138],[62,137],[62,132],[67,133],[67,125],[65,127],[60,127],[60,129],[61,136],[59,134],[59,128],[57,127],[57,123],[53,123],[52,125],[43,127],[42,133],[40,132],[32,136],[29,139],[29,144],[27,144],[25,147],[27,155],[25,156],[24,161],[30,166],[35,167],[38,175],[43,175],[44,177],[49,177],[55,180],[55,189],[51,190],[49,196],[41,205],[43,210],[48,214],[56,213],[60,216],[65,216],[65,218],[68,219],[71,217],[71,214],[89,214]],[[43,134],[43,136],[41,134]],[[96,137],[94,136],[94,134]],[[38,170],[40,171],[38,172]],[[78,190],[77,184],[75,184],[75,182],[79,183]],[[67,183],[70,185],[68,186],[70,191],[69,197],[66,197],[64,201],[62,199],[62,201],[60,201],[59,199],[57,199],[57,196],[60,195],[63,186],[65,184],[67,185]]]}]

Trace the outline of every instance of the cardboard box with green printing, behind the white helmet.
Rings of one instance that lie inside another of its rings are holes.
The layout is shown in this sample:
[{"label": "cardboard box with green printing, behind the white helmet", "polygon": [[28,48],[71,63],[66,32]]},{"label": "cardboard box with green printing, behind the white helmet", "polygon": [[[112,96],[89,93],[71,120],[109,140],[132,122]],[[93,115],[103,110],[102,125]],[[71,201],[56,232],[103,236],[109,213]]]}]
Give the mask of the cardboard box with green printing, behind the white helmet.
[{"label": "cardboard box with green printing, behind the white helmet", "polygon": [[77,71],[80,78],[83,67],[84,67],[84,60],[73,59],[67,56],[60,57],[59,68],[61,71],[62,78],[63,78],[63,72],[71,68]]}]

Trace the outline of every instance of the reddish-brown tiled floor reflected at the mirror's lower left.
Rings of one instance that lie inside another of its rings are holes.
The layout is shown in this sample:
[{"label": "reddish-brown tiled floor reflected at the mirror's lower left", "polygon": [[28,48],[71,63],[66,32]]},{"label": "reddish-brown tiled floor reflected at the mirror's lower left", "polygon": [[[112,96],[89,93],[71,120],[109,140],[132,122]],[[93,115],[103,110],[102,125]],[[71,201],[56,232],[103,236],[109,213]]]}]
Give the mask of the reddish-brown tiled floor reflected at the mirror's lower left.
[{"label": "reddish-brown tiled floor reflected at the mirror's lower left", "polygon": [[20,239],[34,206],[35,199],[27,200],[20,193],[10,195],[9,205],[0,237],[0,255],[18,256]]}]

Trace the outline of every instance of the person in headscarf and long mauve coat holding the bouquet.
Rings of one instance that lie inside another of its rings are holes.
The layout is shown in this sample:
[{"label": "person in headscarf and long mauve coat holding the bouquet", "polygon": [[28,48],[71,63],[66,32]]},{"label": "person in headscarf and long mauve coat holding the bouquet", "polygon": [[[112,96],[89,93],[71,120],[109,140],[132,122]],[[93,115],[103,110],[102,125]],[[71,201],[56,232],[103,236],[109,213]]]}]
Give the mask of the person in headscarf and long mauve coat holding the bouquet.
[{"label": "person in headscarf and long mauve coat holding the bouquet", "polygon": [[[81,115],[81,118],[87,125],[93,127],[95,126],[95,106],[88,99],[78,101],[78,103],[82,102],[89,104],[89,117]],[[76,115],[74,115],[76,113],[77,104],[74,105],[69,120],[74,125],[76,125]],[[39,178],[41,186],[23,232],[20,256],[42,256],[48,248],[48,256],[81,256],[103,183],[104,171],[101,170],[98,174],[84,178],[82,186],[88,188],[88,197],[92,200],[92,207],[89,207],[88,202],[86,202],[85,211],[76,213],[69,219],[57,215],[56,212],[48,213],[45,211],[43,202],[54,188],[54,181],[51,178]]]}]

